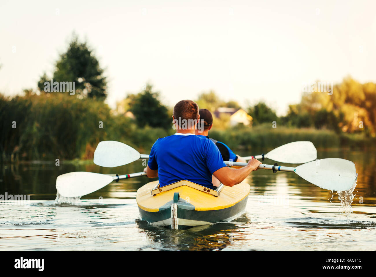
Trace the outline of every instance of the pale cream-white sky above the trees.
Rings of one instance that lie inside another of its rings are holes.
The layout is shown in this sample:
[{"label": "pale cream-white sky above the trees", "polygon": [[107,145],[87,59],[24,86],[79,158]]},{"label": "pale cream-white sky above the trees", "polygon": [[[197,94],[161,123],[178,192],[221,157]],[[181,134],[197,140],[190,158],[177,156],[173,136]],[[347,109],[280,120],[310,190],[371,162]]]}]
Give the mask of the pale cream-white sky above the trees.
[{"label": "pale cream-white sky above the trees", "polygon": [[0,92],[52,75],[73,32],[88,41],[115,107],[146,82],[173,106],[214,90],[284,115],[313,81],[376,81],[375,1],[0,0]]}]

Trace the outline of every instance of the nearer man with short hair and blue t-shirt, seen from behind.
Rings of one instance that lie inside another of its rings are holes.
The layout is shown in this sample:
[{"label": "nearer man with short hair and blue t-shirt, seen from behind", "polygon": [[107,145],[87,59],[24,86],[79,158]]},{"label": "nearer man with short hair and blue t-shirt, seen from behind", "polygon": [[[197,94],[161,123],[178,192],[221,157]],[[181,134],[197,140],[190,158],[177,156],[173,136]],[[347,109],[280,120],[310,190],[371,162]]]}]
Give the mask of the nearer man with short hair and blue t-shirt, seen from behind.
[{"label": "nearer man with short hair and blue t-shirt, seen from behind", "polygon": [[213,188],[212,174],[222,184],[232,187],[261,164],[251,159],[245,167],[227,167],[214,142],[195,135],[200,115],[194,101],[179,101],[174,106],[172,118],[176,134],[159,138],[154,143],[146,167],[147,176],[159,177],[161,187],[188,180]]}]

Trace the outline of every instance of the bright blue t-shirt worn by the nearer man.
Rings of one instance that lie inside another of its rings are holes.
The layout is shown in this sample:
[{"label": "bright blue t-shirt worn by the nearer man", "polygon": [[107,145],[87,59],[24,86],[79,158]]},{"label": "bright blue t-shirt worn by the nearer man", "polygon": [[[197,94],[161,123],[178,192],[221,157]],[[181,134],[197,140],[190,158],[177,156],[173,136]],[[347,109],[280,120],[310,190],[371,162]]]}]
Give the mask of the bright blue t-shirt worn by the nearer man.
[{"label": "bright blue t-shirt worn by the nearer man", "polygon": [[227,166],[214,142],[194,134],[157,139],[147,165],[158,169],[161,187],[188,180],[211,189],[212,173]]}]

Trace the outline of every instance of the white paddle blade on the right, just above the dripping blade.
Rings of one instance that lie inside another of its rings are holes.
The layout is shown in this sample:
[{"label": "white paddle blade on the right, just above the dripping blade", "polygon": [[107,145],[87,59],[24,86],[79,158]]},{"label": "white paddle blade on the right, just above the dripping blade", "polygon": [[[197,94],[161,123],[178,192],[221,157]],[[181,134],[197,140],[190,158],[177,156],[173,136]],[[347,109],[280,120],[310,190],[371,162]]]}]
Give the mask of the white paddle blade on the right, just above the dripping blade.
[{"label": "white paddle blade on the right, just above the dripping blade", "polygon": [[265,158],[288,164],[304,164],[317,158],[317,150],[310,141],[295,141],[271,150]]}]

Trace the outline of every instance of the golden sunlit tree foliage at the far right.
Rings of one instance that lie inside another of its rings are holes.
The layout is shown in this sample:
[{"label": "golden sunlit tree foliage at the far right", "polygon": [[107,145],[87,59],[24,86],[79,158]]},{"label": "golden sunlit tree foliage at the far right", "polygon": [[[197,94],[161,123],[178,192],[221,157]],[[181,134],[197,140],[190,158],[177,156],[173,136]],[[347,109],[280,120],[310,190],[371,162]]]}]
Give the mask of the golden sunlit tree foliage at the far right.
[{"label": "golden sunlit tree foliage at the far right", "polygon": [[347,77],[331,89],[327,93],[317,86],[315,91],[303,93],[299,104],[290,105],[282,123],[375,136],[376,84],[361,84]]}]

